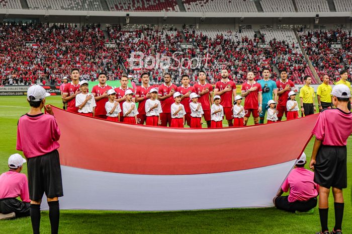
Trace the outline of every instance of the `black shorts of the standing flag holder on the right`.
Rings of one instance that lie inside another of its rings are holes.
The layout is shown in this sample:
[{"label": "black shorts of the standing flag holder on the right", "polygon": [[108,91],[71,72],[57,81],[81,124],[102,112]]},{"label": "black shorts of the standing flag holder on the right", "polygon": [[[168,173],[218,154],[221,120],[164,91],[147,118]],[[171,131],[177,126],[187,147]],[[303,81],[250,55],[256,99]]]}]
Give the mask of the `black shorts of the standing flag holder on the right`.
[{"label": "black shorts of the standing flag holder on the right", "polygon": [[320,145],[314,165],[314,182],[325,188],[347,188],[346,146]]}]

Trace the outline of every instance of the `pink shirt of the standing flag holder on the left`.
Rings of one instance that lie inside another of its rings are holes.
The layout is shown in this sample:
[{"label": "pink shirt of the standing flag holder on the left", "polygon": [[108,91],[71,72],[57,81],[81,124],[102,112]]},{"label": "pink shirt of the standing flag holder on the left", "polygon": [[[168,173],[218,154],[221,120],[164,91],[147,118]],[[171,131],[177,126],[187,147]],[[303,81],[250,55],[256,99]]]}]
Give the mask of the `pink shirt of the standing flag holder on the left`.
[{"label": "pink shirt of the standing flag holder on the left", "polygon": [[16,149],[23,151],[26,158],[44,155],[60,144],[60,129],[55,117],[49,114],[21,116],[17,124]]}]

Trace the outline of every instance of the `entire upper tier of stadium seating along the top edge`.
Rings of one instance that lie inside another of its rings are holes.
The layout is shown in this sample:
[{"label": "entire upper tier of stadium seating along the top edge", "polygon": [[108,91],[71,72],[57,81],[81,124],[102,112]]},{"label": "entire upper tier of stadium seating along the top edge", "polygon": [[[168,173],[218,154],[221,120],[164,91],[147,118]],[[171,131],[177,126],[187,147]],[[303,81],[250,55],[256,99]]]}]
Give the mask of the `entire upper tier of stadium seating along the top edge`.
[{"label": "entire upper tier of stadium seating along the top edge", "polygon": [[[147,12],[337,12],[352,11],[352,1],[333,0],[22,0],[33,10]],[[104,7],[105,6],[105,7]],[[20,0],[0,0],[0,8],[22,9]]]}]

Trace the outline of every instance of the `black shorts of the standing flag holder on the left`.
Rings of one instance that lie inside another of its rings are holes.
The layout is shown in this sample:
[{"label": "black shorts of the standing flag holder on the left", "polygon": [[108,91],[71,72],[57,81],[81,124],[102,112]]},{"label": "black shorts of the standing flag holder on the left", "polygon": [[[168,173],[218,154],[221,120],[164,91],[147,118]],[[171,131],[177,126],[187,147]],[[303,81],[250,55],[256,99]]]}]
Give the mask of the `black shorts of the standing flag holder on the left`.
[{"label": "black shorts of the standing flag holder on the left", "polygon": [[59,152],[56,149],[28,159],[27,168],[31,200],[41,200],[44,192],[48,198],[63,196]]}]

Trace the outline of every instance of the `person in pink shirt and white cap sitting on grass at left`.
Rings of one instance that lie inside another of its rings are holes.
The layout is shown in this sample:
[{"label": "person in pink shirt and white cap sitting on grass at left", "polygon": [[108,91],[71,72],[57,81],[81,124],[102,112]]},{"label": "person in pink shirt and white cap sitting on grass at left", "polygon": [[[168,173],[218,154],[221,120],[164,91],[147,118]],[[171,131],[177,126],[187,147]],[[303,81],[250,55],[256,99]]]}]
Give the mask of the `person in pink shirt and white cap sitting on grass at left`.
[{"label": "person in pink shirt and white cap sitting on grass at left", "polygon": [[10,170],[0,176],[0,219],[29,216],[28,181],[26,175],[20,173],[26,160],[15,153],[8,162]]}]

